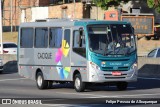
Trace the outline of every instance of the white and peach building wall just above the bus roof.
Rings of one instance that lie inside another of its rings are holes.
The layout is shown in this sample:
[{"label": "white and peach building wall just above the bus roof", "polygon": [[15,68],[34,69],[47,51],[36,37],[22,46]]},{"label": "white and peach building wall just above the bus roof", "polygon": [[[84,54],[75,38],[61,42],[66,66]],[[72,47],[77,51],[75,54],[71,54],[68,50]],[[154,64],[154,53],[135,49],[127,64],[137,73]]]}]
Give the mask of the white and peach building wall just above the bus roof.
[{"label": "white and peach building wall just above the bus roof", "polygon": [[83,15],[84,6],[82,3],[73,3],[65,4],[65,5],[57,5],[57,6],[49,6],[49,7],[32,7],[22,10],[21,21],[23,22],[31,22],[35,19],[45,19],[45,18],[64,18],[62,15],[62,11],[65,7],[66,18],[74,17],[74,6],[75,6],[75,18],[82,19],[85,17]]}]

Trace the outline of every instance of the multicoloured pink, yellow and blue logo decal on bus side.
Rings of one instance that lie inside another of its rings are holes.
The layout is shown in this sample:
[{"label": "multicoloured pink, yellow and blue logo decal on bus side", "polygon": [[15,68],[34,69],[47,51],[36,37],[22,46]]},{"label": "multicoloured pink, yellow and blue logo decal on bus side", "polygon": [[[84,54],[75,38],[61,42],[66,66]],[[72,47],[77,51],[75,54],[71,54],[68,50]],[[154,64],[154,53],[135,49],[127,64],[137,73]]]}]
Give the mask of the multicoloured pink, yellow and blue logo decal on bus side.
[{"label": "multicoloured pink, yellow and blue logo decal on bus side", "polygon": [[64,55],[64,57],[68,56],[69,53],[69,44],[66,42],[66,40],[62,40],[62,47],[58,49],[58,51],[56,52],[56,57],[55,57],[55,62],[57,62],[57,71],[58,74],[60,75],[61,79],[67,78],[69,75],[69,72],[71,71],[71,67],[64,67],[62,68],[62,56]]}]

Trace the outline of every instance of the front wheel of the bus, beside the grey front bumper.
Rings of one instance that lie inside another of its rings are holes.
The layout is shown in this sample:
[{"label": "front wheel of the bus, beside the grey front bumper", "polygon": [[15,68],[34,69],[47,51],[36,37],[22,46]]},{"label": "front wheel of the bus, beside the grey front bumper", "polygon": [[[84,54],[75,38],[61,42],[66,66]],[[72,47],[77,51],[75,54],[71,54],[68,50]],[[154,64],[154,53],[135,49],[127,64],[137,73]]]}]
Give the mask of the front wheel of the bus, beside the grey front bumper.
[{"label": "front wheel of the bus, beside the grey front bumper", "polygon": [[77,92],[83,92],[85,90],[85,83],[82,82],[81,75],[76,74],[74,78],[74,89]]}]

